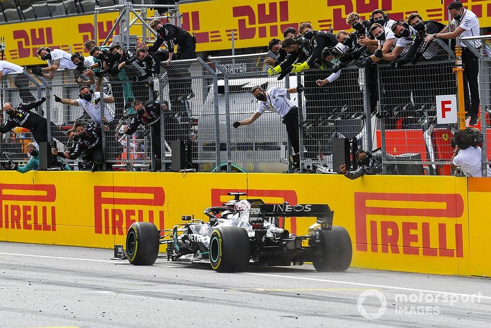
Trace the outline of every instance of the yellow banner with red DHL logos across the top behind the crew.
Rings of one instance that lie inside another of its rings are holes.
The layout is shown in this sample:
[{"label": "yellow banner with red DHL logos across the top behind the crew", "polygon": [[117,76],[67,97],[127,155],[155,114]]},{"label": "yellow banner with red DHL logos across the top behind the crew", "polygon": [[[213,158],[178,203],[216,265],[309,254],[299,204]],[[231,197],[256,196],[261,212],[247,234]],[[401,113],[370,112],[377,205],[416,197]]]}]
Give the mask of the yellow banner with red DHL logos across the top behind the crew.
[{"label": "yellow banner with red DHL logos across the top behind the crew", "polygon": [[[443,2],[443,3],[442,3]],[[377,8],[389,11],[394,20],[419,12],[423,19],[448,22],[446,5],[451,0],[204,0],[182,3],[182,27],[196,33],[196,51],[266,46],[273,37],[282,39],[287,27],[298,28],[310,22],[314,29],[347,30],[346,16],[355,11],[364,19]],[[491,0],[463,0],[464,6],[478,17],[481,27],[491,26]],[[151,16],[151,14],[149,15]],[[111,30],[117,13],[98,15],[97,37],[102,43]],[[217,19],[218,18],[218,19]],[[141,35],[141,26],[131,32]],[[119,33],[116,29],[115,34]],[[19,65],[41,63],[36,59],[40,46],[84,52],[83,43],[94,38],[94,16],[82,15],[43,21],[1,25],[7,46],[6,60]]]}]

